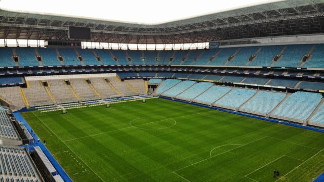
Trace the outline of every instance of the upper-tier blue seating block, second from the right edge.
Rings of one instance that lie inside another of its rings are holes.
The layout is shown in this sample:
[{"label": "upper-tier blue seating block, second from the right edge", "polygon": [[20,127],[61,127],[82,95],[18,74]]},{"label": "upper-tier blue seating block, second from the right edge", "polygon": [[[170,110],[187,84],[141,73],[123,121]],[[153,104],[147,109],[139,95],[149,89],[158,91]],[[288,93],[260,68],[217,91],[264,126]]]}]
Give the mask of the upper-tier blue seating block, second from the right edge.
[{"label": "upper-tier blue seating block, second from the right edge", "polygon": [[273,66],[278,67],[299,67],[302,63],[300,60],[308,53],[312,44],[297,44],[287,45],[288,47],[282,53],[279,61],[276,61]]}]

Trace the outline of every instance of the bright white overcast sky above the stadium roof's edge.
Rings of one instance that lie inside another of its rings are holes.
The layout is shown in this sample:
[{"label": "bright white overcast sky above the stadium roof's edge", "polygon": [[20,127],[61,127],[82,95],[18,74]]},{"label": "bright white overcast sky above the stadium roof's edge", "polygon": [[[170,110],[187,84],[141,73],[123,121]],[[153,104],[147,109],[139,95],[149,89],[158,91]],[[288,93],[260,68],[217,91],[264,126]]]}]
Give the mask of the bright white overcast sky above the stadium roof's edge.
[{"label": "bright white overcast sky above the stadium roof's edge", "polygon": [[160,24],[283,0],[0,0],[0,9]]}]

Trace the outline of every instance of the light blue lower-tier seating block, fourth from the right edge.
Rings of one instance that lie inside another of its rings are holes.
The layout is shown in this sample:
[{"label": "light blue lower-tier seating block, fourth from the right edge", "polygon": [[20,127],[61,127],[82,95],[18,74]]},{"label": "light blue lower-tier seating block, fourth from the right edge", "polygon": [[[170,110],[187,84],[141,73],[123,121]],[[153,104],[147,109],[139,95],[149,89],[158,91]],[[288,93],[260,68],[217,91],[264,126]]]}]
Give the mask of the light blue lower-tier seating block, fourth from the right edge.
[{"label": "light blue lower-tier seating block, fourth from the right edge", "polygon": [[256,90],[235,88],[226,96],[215,102],[214,106],[238,108],[248,101],[256,92]]}]

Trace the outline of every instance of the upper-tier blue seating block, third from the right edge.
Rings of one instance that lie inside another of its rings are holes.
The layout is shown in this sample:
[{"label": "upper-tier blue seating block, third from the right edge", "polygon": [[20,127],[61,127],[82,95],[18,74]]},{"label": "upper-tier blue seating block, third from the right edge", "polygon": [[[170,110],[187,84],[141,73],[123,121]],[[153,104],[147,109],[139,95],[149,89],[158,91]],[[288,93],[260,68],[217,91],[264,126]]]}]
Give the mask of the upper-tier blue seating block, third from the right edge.
[{"label": "upper-tier blue seating block, third from the right edge", "polygon": [[284,45],[263,46],[255,59],[249,62],[248,66],[270,66],[274,56],[278,55],[283,48]]}]

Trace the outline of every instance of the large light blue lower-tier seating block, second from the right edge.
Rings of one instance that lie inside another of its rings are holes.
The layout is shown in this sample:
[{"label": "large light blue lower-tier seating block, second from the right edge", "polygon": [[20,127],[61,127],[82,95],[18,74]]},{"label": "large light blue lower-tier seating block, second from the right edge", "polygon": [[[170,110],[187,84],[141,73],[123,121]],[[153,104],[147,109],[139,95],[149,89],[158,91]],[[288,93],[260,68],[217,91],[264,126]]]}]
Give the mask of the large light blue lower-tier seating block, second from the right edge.
[{"label": "large light blue lower-tier seating block, second from the right edge", "polygon": [[296,92],[282,103],[272,114],[282,117],[306,120],[317,107],[320,93]]}]

